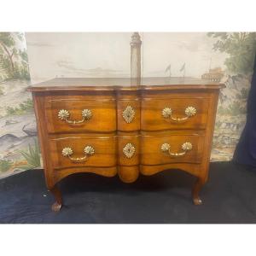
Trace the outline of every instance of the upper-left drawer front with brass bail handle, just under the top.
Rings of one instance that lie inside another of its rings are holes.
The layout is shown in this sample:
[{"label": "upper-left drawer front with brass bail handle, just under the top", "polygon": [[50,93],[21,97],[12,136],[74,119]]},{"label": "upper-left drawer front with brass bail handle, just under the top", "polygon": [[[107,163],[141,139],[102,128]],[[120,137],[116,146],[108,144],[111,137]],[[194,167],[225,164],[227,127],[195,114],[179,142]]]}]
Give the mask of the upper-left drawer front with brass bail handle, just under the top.
[{"label": "upper-left drawer front with brass bail handle, just under the top", "polygon": [[87,96],[46,97],[47,130],[57,132],[115,131],[115,100]]}]

